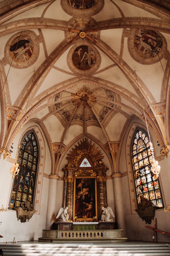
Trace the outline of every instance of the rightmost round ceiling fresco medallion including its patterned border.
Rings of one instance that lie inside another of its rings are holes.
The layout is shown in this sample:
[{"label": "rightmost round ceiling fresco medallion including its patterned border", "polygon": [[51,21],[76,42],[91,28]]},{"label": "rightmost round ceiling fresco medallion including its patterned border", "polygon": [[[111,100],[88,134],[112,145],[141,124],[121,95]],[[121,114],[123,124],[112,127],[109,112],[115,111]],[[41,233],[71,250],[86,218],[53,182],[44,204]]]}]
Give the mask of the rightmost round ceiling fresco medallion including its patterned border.
[{"label": "rightmost round ceiling fresco medallion including its patterned border", "polygon": [[133,29],[128,38],[128,49],[137,62],[153,64],[158,62],[159,58],[163,58],[167,43],[159,32],[150,29]]}]

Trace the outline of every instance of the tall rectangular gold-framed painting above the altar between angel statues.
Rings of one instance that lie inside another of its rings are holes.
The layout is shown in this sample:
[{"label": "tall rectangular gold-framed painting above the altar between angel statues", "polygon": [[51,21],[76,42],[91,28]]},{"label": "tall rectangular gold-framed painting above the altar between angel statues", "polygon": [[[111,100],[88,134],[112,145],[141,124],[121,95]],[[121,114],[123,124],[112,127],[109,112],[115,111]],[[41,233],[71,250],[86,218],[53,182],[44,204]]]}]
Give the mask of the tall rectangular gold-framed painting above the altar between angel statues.
[{"label": "tall rectangular gold-framed painting above the altar between angel statues", "polygon": [[73,220],[91,221],[97,216],[97,185],[92,177],[74,178]]}]

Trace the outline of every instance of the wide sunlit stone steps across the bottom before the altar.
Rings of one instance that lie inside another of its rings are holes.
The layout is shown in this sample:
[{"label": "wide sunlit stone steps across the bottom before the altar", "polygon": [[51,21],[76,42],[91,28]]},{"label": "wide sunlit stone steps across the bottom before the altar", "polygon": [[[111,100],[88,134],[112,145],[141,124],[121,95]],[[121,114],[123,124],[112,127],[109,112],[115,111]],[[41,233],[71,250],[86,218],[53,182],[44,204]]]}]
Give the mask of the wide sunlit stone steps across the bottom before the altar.
[{"label": "wide sunlit stone steps across the bottom before the altar", "polygon": [[[20,242],[21,243],[21,242]],[[26,243],[26,242],[25,242]],[[170,256],[165,243],[106,242],[0,244],[4,256]]]}]

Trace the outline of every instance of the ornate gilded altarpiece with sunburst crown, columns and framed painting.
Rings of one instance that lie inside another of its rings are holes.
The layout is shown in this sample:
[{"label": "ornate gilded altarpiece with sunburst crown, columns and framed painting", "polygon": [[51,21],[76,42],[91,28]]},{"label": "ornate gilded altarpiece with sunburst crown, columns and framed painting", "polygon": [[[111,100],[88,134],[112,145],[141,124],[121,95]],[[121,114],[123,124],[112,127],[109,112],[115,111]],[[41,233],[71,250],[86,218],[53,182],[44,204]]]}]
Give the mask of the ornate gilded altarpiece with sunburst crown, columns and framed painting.
[{"label": "ornate gilded altarpiece with sunburst crown, columns and framed painting", "polygon": [[101,218],[102,207],[107,207],[106,171],[103,154],[87,138],[82,139],[67,154],[64,171],[64,208],[70,219],[79,221]]}]

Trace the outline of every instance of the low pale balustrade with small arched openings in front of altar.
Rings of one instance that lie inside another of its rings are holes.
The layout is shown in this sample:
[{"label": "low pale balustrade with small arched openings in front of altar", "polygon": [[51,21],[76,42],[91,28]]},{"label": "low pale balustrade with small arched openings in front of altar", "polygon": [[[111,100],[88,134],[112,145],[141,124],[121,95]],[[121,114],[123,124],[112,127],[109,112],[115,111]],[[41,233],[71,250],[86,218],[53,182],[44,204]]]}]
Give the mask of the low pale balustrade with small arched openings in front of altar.
[{"label": "low pale balustrade with small arched openings in front of altar", "polygon": [[39,242],[54,242],[58,240],[115,240],[127,241],[123,237],[123,229],[115,230],[43,230]]}]

